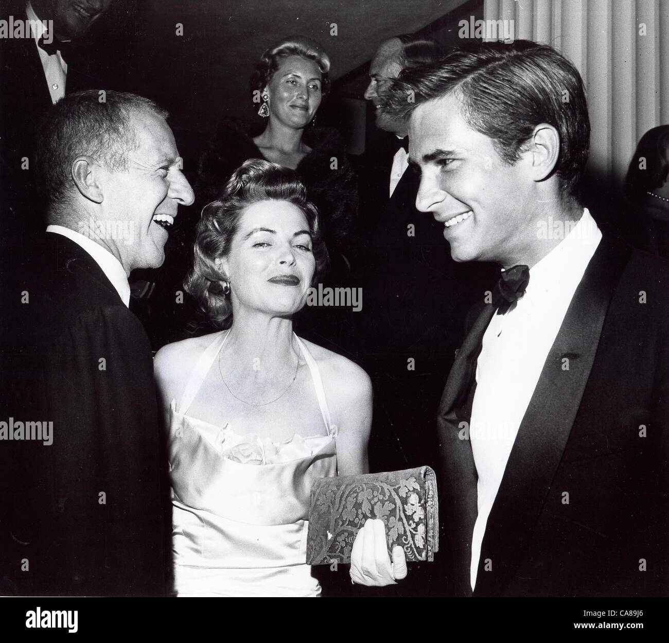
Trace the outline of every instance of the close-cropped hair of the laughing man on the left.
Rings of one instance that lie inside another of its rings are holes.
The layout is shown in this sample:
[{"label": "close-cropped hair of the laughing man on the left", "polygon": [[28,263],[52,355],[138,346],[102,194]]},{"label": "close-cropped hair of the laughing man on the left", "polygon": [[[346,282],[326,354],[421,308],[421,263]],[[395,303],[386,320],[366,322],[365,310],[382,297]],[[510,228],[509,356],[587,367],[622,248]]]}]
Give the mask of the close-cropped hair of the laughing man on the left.
[{"label": "close-cropped hair of the laughing man on the left", "polygon": [[66,94],[37,126],[36,167],[39,188],[50,203],[67,198],[74,187],[72,163],[80,155],[93,157],[110,171],[128,169],[128,153],[139,147],[132,115],[151,112],[166,119],[155,102],[108,90]]}]

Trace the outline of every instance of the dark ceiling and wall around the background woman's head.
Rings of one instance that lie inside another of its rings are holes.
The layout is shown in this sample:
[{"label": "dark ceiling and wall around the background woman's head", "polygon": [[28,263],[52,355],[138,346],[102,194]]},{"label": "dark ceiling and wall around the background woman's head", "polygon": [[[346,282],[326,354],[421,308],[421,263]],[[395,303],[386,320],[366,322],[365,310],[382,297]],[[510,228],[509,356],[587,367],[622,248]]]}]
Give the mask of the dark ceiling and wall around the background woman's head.
[{"label": "dark ceiling and wall around the background woman's head", "polygon": [[[2,13],[22,1],[0,0]],[[482,17],[482,0],[114,0],[94,25],[90,48],[111,88],[131,90],[167,108],[185,170],[193,171],[209,135],[225,117],[260,120],[249,78],[260,55],[283,37],[320,42],[332,67],[332,92],[318,125],[337,126],[349,153],[374,134],[363,92],[379,43],[424,33],[458,41],[458,21]],[[337,35],[330,35],[332,24]],[[177,35],[183,25],[183,35]]]}]

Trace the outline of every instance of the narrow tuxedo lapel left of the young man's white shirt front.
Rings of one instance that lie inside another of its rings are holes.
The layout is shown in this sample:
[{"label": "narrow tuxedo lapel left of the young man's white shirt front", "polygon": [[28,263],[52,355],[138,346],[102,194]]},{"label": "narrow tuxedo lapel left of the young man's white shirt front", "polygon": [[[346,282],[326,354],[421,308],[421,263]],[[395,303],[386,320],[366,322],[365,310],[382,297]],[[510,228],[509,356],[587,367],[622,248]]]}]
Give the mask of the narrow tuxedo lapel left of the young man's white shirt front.
[{"label": "narrow tuxedo lapel left of the young man's white shirt front", "polygon": [[446,523],[453,556],[455,592],[469,595],[472,532],[478,513],[478,475],[469,440],[472,399],[476,389],[476,360],[483,335],[496,308],[487,304],[474,321],[448,375],[437,418],[440,448],[440,515]]}]

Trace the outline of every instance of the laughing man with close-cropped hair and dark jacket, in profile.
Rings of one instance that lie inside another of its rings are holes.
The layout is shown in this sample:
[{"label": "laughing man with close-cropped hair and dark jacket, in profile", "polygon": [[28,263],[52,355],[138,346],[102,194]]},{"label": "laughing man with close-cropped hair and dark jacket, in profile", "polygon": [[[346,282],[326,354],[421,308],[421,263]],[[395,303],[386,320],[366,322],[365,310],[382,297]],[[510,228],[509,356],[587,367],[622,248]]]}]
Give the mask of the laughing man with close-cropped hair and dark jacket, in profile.
[{"label": "laughing man with close-cropped hair and dark jacket, in profile", "polygon": [[43,422],[50,444],[1,442],[5,592],[170,591],[167,459],[127,280],[163,263],[164,226],[193,203],[166,116],[146,98],[100,102],[91,90],[62,98],[40,132],[50,225],[5,304],[0,420],[26,422],[26,434]]}]

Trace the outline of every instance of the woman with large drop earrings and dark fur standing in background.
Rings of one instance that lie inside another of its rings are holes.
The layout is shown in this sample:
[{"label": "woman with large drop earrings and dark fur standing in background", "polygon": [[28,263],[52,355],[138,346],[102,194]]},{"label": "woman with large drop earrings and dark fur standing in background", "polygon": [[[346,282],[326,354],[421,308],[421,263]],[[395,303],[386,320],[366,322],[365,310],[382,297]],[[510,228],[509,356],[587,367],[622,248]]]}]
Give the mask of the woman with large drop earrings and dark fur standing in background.
[{"label": "woman with large drop earrings and dark fur standing in background", "polygon": [[[294,169],[320,213],[330,255],[323,286],[355,287],[359,285],[351,270],[357,248],[355,174],[339,132],[314,126],[330,88],[329,70],[328,55],[303,36],[285,38],[266,50],[251,77],[253,105],[263,122],[221,122],[200,159],[195,193],[201,205],[219,198],[229,177],[247,159]],[[306,306],[296,318],[296,327],[304,337],[340,353],[350,356],[355,349],[350,309]]]}]

